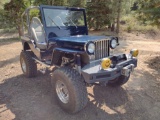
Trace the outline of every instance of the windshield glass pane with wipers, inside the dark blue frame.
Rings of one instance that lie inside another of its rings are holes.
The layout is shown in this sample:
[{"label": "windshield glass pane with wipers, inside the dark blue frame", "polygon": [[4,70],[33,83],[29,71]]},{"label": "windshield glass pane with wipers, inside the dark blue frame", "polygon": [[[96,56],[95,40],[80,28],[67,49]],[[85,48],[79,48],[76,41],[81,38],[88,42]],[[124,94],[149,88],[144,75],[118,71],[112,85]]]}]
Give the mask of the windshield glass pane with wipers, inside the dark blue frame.
[{"label": "windshield glass pane with wipers, inside the dark blue frame", "polygon": [[47,27],[85,26],[83,11],[43,9]]}]

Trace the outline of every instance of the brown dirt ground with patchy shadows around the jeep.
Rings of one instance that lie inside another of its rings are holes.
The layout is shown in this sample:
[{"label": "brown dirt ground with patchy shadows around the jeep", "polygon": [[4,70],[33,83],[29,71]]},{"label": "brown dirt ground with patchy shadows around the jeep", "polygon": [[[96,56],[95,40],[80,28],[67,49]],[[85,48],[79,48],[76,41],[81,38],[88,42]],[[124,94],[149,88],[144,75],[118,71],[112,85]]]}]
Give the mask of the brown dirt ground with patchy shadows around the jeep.
[{"label": "brown dirt ground with patchy shadows around the jeep", "polygon": [[20,42],[0,42],[0,120],[159,120],[160,40],[131,34],[124,38],[119,52],[140,51],[130,80],[118,88],[87,88],[90,101],[76,115],[63,112],[55,102],[50,73],[25,78]]}]

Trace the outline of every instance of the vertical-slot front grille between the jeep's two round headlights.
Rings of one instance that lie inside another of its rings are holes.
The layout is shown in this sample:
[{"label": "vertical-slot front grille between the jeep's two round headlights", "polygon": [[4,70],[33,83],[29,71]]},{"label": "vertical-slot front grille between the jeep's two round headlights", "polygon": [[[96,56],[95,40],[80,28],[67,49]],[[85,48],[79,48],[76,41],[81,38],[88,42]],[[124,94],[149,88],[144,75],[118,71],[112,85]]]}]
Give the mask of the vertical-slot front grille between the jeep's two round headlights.
[{"label": "vertical-slot front grille between the jeep's two round headlights", "polygon": [[95,60],[109,55],[109,40],[98,40],[95,42]]}]

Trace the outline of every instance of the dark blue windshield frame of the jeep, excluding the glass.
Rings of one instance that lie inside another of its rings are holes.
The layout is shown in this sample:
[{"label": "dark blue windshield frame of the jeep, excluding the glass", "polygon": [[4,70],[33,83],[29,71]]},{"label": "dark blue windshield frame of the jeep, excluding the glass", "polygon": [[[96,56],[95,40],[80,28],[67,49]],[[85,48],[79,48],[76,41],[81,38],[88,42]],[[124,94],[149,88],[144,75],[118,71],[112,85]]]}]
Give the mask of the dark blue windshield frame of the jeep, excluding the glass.
[{"label": "dark blue windshield frame of the jeep, excluding the glass", "polygon": [[[75,11],[83,11],[84,16],[84,26],[62,26],[62,27],[47,27],[44,17],[43,9],[62,9],[62,10],[75,10]],[[40,13],[42,18],[42,24],[46,36],[46,40],[49,41],[52,37],[64,37],[64,36],[75,36],[75,35],[88,35],[88,27],[86,22],[86,12],[84,8],[74,8],[74,7],[64,7],[64,6],[48,6],[48,5],[40,5]]]}]

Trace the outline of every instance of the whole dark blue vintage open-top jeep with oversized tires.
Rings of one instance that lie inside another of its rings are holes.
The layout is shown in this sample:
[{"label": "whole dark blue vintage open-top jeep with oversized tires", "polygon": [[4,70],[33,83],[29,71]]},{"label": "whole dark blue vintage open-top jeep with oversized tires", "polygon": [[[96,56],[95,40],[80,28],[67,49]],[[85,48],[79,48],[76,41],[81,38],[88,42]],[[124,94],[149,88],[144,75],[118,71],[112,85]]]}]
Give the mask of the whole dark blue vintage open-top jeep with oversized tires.
[{"label": "whole dark blue vintage open-top jeep with oversized tires", "polygon": [[[39,11],[31,16],[30,11]],[[112,36],[88,35],[85,9],[60,6],[30,7],[22,14],[27,32],[21,36],[20,64],[27,77],[37,75],[37,63],[55,66],[52,86],[62,109],[76,113],[88,101],[87,86],[120,86],[137,66],[138,50],[110,54],[119,45]]]}]

